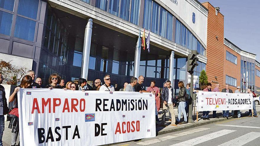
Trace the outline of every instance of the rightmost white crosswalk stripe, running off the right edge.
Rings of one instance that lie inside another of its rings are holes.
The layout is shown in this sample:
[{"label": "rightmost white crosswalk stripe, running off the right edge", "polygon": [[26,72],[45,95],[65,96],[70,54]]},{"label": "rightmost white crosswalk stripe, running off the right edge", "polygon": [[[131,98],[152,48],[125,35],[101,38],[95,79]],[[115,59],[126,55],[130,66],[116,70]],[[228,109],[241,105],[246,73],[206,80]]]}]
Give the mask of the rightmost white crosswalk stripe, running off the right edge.
[{"label": "rightmost white crosswalk stripe, running off the right edge", "polygon": [[250,132],[241,137],[237,137],[233,140],[225,142],[219,146],[242,146],[258,137],[260,137],[260,132]]}]

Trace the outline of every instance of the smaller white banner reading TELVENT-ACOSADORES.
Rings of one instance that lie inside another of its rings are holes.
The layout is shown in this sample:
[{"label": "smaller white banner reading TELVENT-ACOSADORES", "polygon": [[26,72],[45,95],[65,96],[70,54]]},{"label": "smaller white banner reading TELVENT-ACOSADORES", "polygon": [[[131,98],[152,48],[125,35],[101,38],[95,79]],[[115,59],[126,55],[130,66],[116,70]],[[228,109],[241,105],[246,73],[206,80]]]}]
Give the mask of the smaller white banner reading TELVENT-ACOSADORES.
[{"label": "smaller white banner reading TELVENT-ACOSADORES", "polygon": [[197,111],[253,109],[253,96],[247,93],[199,91],[197,97]]}]

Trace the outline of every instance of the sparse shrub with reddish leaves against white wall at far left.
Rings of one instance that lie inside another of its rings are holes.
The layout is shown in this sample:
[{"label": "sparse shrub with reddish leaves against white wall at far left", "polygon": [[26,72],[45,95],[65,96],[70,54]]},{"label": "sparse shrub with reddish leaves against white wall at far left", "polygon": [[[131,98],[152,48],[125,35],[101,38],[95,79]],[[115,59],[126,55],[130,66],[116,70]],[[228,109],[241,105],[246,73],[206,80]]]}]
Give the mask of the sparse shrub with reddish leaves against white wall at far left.
[{"label": "sparse shrub with reddish leaves against white wall at far left", "polygon": [[17,85],[28,70],[26,67],[12,65],[11,61],[4,61],[0,59],[0,73],[4,78],[4,83],[9,85]]}]

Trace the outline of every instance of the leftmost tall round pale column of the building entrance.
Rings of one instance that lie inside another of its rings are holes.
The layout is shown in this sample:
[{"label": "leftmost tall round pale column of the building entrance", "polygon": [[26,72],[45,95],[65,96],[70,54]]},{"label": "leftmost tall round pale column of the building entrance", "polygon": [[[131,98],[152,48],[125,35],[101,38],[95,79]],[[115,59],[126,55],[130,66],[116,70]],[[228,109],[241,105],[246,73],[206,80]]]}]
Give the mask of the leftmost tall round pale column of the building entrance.
[{"label": "leftmost tall round pale column of the building entrance", "polygon": [[92,24],[93,24],[92,21],[93,20],[91,18],[88,19],[85,28],[85,36],[84,36],[81,78],[85,78],[86,80],[87,80],[88,64],[89,64],[89,56],[90,56],[90,45],[91,45]]}]

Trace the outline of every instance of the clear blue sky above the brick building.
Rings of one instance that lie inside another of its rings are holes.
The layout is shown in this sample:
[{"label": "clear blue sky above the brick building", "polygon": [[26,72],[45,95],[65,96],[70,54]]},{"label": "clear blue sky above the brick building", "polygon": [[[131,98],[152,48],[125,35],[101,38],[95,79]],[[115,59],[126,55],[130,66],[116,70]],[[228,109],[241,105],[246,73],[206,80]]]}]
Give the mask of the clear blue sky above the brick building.
[{"label": "clear blue sky above the brick building", "polygon": [[220,7],[224,15],[224,37],[236,46],[256,54],[260,62],[260,1],[259,0],[198,0]]}]

